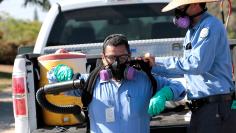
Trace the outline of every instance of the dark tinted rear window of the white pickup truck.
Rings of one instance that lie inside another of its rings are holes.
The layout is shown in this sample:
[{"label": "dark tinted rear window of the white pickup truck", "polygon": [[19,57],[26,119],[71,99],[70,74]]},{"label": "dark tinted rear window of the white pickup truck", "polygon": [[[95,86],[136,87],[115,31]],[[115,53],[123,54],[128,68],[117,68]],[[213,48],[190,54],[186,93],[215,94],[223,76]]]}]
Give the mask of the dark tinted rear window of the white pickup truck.
[{"label": "dark tinted rear window of the white pickup truck", "polygon": [[113,33],[129,40],[183,37],[186,31],[172,23],[173,12],[161,12],[164,6],[132,4],[63,12],[56,18],[47,46],[97,43]]}]

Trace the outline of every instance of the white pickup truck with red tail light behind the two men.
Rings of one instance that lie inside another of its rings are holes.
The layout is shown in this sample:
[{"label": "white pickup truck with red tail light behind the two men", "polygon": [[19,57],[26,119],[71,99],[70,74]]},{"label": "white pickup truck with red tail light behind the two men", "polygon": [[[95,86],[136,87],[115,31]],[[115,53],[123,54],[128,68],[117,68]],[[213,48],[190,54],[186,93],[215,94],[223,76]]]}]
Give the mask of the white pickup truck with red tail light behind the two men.
[{"label": "white pickup truck with red tail light behind the two men", "polygon": [[[84,53],[87,72],[90,72],[100,57],[104,38],[112,33],[122,33],[129,39],[133,57],[146,52],[159,57],[182,56],[181,43],[186,31],[172,23],[173,12],[161,12],[167,2],[169,0],[64,0],[54,4],[43,22],[33,52],[19,53],[14,62],[12,96],[15,132],[85,132],[85,128],[77,124],[45,123],[43,109],[36,101],[36,91],[42,78],[37,59],[41,55],[61,48]],[[233,49],[236,41],[230,42]],[[153,117],[151,132],[185,133],[189,122],[184,117],[187,112],[182,108],[181,112]],[[50,116],[47,119],[52,120]]]}]

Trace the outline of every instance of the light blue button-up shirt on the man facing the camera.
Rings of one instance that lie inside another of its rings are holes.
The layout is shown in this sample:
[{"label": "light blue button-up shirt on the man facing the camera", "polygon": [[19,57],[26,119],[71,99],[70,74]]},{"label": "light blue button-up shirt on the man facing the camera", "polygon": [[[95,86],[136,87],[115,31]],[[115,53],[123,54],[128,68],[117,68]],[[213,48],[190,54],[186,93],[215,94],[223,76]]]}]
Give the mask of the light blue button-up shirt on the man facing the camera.
[{"label": "light blue button-up shirt on the man facing the camera", "polygon": [[[185,88],[178,81],[155,77],[158,89],[169,86],[173,100],[185,96]],[[70,95],[79,95],[78,90]],[[149,133],[150,116],[148,105],[152,96],[151,82],[145,73],[138,71],[132,80],[102,81],[97,79],[93,99],[88,106],[92,133]],[[106,110],[114,109],[114,118],[109,122]]]}]

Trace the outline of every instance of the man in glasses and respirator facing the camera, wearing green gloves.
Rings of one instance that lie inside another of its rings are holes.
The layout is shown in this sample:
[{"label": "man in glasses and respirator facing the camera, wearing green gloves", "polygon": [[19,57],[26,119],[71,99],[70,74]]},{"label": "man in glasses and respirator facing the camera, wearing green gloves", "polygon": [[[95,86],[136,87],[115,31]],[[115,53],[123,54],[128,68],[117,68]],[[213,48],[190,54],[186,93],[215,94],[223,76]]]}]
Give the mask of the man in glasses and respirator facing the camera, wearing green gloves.
[{"label": "man in glasses and respirator facing the camera, wearing green gloves", "polygon": [[[143,71],[129,66],[131,52],[128,41],[121,34],[108,36],[103,44],[102,63],[88,106],[92,133],[148,133],[150,116],[148,106],[152,97],[152,84]],[[82,75],[81,77],[86,77]],[[162,111],[165,101],[181,100],[185,88],[180,82],[155,77],[157,93],[153,105]],[[79,90],[68,95],[79,95]],[[151,100],[153,101],[153,100]]]}]

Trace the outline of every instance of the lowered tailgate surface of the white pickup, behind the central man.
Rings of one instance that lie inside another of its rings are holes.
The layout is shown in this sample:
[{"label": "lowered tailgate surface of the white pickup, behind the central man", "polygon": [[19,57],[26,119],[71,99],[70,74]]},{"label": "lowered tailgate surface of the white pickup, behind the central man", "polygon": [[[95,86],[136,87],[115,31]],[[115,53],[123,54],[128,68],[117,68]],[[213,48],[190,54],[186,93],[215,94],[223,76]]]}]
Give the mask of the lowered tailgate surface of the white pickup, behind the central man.
[{"label": "lowered tailgate surface of the white pickup, behind the central man", "polygon": [[[152,117],[150,122],[150,132],[151,133],[166,133],[166,132],[174,132],[174,133],[186,133],[187,126],[189,124],[189,110],[185,109],[181,112],[165,112]],[[58,132],[68,132],[68,133],[86,133],[86,128],[74,126],[64,126],[64,127],[44,127],[39,128],[33,133],[58,133]]]}]

